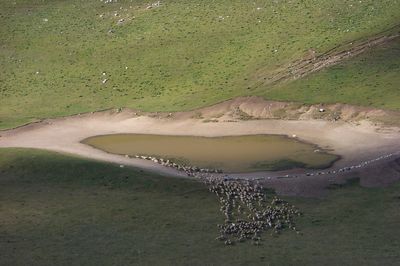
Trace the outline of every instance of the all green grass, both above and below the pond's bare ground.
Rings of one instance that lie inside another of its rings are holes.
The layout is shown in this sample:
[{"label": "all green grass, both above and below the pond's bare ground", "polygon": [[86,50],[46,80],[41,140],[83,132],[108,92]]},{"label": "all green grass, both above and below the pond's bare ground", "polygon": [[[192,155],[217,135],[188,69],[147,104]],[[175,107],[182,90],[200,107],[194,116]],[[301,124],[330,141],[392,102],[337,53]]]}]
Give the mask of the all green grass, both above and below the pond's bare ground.
[{"label": "all green grass, both above and below the pond's bare ground", "polygon": [[[400,110],[400,41],[303,79],[290,62],[399,24],[398,0],[0,0],[0,129],[108,108],[183,111],[238,96]],[[260,71],[262,70],[262,73]],[[355,178],[357,178],[355,176]],[[271,192],[272,196],[272,192]],[[396,265],[400,183],[286,197],[301,233],[215,240],[196,181],[0,149],[0,265]]]}]

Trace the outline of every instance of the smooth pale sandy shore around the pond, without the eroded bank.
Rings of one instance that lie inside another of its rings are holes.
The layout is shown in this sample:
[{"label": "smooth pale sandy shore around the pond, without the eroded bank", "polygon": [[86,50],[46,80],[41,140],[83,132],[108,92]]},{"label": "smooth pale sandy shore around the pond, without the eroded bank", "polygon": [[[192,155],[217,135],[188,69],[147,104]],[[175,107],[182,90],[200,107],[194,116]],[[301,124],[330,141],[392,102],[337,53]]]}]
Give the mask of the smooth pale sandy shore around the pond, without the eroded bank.
[{"label": "smooth pale sandy shore around the pond, without the eroded bank", "polygon": [[[229,121],[229,122],[227,122]],[[163,167],[151,161],[125,158],[120,155],[109,154],[85,144],[83,139],[95,135],[115,133],[147,133],[166,135],[194,135],[194,136],[224,136],[244,134],[283,134],[296,135],[300,140],[329,149],[340,155],[332,169],[354,165],[362,161],[376,158],[382,154],[400,150],[400,129],[386,127],[384,129],[368,122],[357,125],[347,122],[332,122],[326,120],[227,120],[219,122],[204,122],[201,119],[165,116],[138,116],[132,111],[123,112],[105,111],[92,114],[77,115],[67,118],[49,119],[40,123],[26,125],[20,128],[1,131],[0,147],[37,148],[61,153],[73,154],[91,159],[139,167],[166,176],[185,175],[172,168]],[[392,158],[396,159],[396,158]],[[385,162],[386,163],[386,162]],[[372,166],[371,166],[372,167]],[[376,165],[374,166],[376,167]],[[304,173],[302,169],[280,172],[244,173],[232,176],[242,177],[272,177],[265,183],[275,187],[282,194],[302,194],[301,191],[288,190],[288,183],[298,183],[299,180],[283,180],[277,177],[286,174]],[[349,175],[347,173],[346,175]],[[332,178],[334,180],[332,180]],[[309,180],[318,184],[321,179],[326,182],[341,180],[343,177],[307,177],[301,182]],[[316,181],[316,179],[318,179]],[[282,184],[279,187],[277,184]],[[297,184],[294,187],[301,187]],[[307,194],[307,193],[303,193]]]}]

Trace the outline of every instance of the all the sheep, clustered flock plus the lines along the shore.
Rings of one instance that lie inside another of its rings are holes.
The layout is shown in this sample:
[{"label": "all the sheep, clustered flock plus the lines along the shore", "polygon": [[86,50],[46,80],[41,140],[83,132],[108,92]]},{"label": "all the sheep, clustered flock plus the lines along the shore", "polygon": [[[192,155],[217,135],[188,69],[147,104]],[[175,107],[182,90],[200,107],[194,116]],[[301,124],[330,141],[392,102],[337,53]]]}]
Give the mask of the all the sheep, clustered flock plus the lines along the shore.
[{"label": "all the sheep, clustered flock plus the lines along the shore", "polygon": [[[358,165],[326,172],[305,173],[304,175],[339,174],[365,167],[373,162],[398,154],[400,154],[400,151],[382,155],[375,159],[361,162]],[[184,171],[188,176],[197,177],[203,181],[209,187],[209,190],[219,198],[220,210],[225,217],[225,223],[218,225],[220,235],[217,240],[224,241],[226,245],[233,245],[236,242],[244,242],[246,240],[252,240],[254,245],[260,245],[261,235],[267,230],[277,234],[283,229],[292,229],[299,233],[295,227],[294,218],[299,216],[300,212],[295,206],[291,206],[277,197],[268,200],[264,189],[257,181],[265,177],[252,179],[251,181],[233,179],[213,175],[222,173],[221,170],[183,166],[170,160],[153,156],[136,155],[134,157],[150,160],[166,167],[176,168]],[[298,177],[298,175],[287,175],[285,177]]]}]

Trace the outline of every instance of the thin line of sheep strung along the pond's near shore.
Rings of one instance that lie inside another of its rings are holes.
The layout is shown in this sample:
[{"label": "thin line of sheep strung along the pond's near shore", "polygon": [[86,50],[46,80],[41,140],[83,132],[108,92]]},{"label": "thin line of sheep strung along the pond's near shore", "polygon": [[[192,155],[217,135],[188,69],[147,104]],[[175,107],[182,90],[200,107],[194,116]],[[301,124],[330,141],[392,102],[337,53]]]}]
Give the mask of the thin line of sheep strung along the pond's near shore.
[{"label": "thin line of sheep strung along the pond's near shore", "polygon": [[[301,176],[338,175],[338,174],[341,174],[344,172],[350,172],[350,171],[353,171],[353,170],[356,170],[359,168],[366,167],[371,163],[378,162],[378,161],[381,161],[384,159],[388,159],[388,158],[397,156],[399,154],[400,154],[400,151],[381,155],[377,158],[363,161],[357,165],[346,166],[346,167],[342,167],[342,168],[336,169],[336,170],[314,171],[314,172],[307,172],[304,174],[297,174],[297,175],[277,176],[276,178],[296,178],[296,177],[301,177]],[[125,155],[125,157],[130,158],[129,155]],[[201,177],[203,174],[221,174],[221,173],[223,173],[223,171],[221,169],[208,169],[208,168],[200,168],[197,166],[180,165],[175,162],[172,162],[171,160],[164,159],[164,158],[157,158],[154,156],[135,155],[133,157],[137,158],[137,159],[149,160],[149,161],[158,163],[165,167],[175,168],[178,171],[185,172],[188,176],[192,176],[192,177]],[[123,167],[123,166],[121,165],[121,167]],[[266,176],[266,177],[258,177],[258,178],[233,178],[233,177],[231,177],[230,179],[262,180],[262,179],[271,179],[271,178],[272,178],[271,176]]]}]

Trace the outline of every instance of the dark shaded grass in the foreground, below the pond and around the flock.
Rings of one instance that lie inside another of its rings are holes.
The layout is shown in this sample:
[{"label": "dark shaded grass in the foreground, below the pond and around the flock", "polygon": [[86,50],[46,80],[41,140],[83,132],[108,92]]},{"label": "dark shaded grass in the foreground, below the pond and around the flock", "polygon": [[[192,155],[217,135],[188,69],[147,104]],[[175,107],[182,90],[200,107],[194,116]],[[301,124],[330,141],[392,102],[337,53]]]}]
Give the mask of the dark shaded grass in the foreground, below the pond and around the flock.
[{"label": "dark shaded grass in the foreground, below the pond and around the flock", "polygon": [[396,265],[400,184],[286,198],[301,234],[225,246],[200,183],[49,152],[0,150],[0,265]]}]

